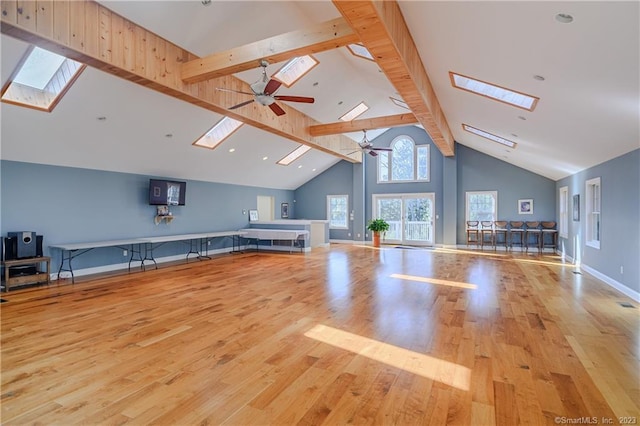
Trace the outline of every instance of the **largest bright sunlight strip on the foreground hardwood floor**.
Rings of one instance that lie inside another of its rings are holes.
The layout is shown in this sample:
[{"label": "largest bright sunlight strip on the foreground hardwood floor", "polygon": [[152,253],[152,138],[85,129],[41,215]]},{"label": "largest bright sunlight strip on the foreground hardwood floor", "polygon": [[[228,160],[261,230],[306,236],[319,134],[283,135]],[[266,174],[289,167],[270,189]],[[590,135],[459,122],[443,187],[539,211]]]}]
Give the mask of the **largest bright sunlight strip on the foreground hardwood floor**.
[{"label": "largest bright sunlight strip on the foreground hardwood floor", "polygon": [[469,390],[471,370],[459,364],[322,324],[316,325],[304,335],[445,385]]}]

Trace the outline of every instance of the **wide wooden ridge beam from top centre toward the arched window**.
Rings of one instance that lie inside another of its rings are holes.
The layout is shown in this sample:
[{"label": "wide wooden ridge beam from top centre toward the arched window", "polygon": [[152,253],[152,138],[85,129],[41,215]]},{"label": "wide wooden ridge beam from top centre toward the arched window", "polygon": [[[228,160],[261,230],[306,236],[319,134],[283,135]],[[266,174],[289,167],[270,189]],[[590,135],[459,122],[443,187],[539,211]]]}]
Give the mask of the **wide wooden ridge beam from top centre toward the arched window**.
[{"label": "wide wooden ridge beam from top centre toward the arched window", "polygon": [[454,155],[454,139],[398,3],[343,1],[333,4],[360,36],[443,155]]}]

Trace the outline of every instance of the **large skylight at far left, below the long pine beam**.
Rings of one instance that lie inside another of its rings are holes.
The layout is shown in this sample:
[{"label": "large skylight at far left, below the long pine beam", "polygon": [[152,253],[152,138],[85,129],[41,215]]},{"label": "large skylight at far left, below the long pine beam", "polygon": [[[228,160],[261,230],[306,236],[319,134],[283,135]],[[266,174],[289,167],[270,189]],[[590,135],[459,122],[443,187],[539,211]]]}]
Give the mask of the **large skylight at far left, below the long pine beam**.
[{"label": "large skylight at far left, below the long pine beam", "polygon": [[33,47],[3,89],[2,101],[52,111],[84,68],[79,62]]}]

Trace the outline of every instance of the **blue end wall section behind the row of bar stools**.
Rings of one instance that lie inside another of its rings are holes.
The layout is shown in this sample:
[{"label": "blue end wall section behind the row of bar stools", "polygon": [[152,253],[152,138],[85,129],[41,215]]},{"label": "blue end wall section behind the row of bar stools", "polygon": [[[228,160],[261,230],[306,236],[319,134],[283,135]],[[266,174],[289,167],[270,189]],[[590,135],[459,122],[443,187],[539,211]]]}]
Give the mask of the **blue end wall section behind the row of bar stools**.
[{"label": "blue end wall section behind the row of bar stools", "polygon": [[[458,244],[466,243],[468,191],[498,191],[498,220],[557,221],[555,182],[464,145],[457,145]],[[519,215],[518,200],[533,199],[533,214]]]}]

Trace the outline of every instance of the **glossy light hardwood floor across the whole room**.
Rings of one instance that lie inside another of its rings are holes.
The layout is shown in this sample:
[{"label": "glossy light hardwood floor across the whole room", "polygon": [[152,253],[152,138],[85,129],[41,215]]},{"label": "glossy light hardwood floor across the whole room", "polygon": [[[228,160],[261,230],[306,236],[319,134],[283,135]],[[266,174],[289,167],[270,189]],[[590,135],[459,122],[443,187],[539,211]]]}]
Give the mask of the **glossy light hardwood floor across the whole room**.
[{"label": "glossy light hardwood floor across the whole room", "polygon": [[3,425],[640,416],[637,304],[550,255],[333,244],[2,297]]}]

